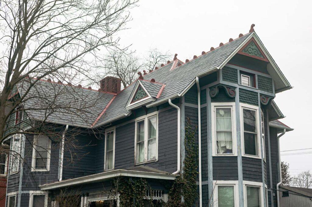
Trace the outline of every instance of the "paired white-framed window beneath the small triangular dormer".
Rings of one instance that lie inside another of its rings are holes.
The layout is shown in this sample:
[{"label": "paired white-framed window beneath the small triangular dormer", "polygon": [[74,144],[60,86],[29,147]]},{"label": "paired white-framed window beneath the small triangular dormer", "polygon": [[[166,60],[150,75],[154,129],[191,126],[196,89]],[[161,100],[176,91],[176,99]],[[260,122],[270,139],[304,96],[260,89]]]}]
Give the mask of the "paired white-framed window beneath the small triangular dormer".
[{"label": "paired white-framed window beneath the small triangular dormer", "polygon": [[145,117],[135,123],[135,160],[144,163],[157,160],[158,145],[158,117]]}]

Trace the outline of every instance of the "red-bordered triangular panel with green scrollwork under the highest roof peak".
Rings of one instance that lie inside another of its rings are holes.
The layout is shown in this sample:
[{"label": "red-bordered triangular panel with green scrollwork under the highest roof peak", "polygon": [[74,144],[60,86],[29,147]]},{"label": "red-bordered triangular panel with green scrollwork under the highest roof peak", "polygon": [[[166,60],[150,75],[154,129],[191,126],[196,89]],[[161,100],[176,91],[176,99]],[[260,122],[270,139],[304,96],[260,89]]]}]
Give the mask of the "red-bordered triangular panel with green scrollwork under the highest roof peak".
[{"label": "red-bordered triangular panel with green scrollwork under the highest roof peak", "polygon": [[266,55],[261,50],[258,43],[253,37],[241,48],[241,50],[238,53],[246,55],[251,58],[256,58],[259,60],[269,62],[268,58],[266,58]]}]

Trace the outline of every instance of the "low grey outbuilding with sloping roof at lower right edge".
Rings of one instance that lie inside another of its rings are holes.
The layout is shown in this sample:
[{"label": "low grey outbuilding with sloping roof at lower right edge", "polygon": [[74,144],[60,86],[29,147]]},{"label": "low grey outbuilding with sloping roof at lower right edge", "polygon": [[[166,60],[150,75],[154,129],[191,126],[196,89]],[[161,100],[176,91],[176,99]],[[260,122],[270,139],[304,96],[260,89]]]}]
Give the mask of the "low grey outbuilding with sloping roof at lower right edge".
[{"label": "low grey outbuilding with sloping roof at lower right edge", "polygon": [[280,186],[280,206],[283,207],[311,207],[312,189],[291,186]]}]

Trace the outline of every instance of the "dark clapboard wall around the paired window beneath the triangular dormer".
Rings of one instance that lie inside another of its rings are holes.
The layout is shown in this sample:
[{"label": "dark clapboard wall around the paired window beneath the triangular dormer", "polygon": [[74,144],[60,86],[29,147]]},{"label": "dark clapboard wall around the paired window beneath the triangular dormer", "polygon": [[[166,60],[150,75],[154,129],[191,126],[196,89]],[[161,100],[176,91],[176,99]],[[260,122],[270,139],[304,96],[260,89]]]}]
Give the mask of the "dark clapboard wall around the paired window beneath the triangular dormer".
[{"label": "dark clapboard wall around the paired window beneath the triangular dormer", "polygon": [[[158,161],[142,164],[173,173],[177,170],[178,114],[175,108],[158,113]],[[134,167],[135,122],[116,128],[115,169]]]}]

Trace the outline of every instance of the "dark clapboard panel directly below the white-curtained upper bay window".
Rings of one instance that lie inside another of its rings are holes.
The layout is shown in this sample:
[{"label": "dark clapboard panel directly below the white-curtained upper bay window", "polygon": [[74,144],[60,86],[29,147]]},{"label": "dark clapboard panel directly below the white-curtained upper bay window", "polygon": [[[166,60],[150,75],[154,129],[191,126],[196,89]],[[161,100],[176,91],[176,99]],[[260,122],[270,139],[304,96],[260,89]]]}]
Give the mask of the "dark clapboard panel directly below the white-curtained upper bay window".
[{"label": "dark clapboard panel directly below the white-curtained upper bay window", "polygon": [[238,180],[236,156],[212,157],[213,180]]}]

